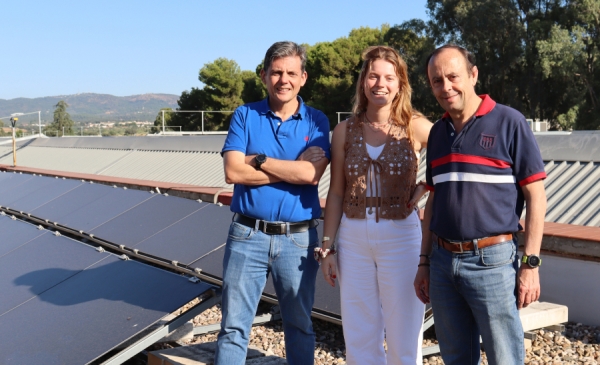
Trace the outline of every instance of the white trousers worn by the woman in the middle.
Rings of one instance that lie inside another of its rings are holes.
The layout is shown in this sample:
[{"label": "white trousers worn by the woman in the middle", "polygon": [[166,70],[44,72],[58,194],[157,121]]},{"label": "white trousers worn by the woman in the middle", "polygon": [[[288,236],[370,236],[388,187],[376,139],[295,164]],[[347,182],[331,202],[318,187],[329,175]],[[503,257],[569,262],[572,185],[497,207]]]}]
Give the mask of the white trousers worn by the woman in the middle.
[{"label": "white trousers worn by the woman in the middle", "polygon": [[[338,268],[348,365],[422,364],[425,305],[413,281],[421,249],[417,212],[406,219],[342,216]],[[387,354],[383,340],[387,343]]]}]

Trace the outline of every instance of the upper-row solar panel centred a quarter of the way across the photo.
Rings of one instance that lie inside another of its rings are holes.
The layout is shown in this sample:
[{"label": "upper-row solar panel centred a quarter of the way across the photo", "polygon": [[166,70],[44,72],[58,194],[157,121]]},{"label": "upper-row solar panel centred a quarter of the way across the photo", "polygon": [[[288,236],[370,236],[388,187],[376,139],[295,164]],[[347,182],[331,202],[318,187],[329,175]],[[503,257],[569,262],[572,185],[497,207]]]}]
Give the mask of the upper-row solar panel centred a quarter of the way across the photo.
[{"label": "upper-row solar panel centred a quarter of the way across the photo", "polygon": [[93,229],[91,233],[98,238],[135,247],[141,241],[202,208],[202,204],[194,200],[154,195],[151,199]]}]

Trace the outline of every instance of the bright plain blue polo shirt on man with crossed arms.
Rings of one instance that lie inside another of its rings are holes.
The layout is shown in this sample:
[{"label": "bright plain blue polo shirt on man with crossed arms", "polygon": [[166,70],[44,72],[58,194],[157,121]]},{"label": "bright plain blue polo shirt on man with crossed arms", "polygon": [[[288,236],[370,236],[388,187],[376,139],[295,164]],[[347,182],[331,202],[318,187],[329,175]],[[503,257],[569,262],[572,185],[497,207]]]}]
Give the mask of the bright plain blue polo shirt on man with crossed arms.
[{"label": "bright plain blue polo shirt on man with crossed arms", "polygon": [[[321,147],[331,160],[329,120],[321,111],[304,104],[282,123],[269,108],[268,99],[236,109],[222,153],[264,153],[279,160],[296,160],[312,146]],[[231,211],[266,221],[299,222],[321,216],[317,185],[287,182],[248,186],[235,184]]]}]

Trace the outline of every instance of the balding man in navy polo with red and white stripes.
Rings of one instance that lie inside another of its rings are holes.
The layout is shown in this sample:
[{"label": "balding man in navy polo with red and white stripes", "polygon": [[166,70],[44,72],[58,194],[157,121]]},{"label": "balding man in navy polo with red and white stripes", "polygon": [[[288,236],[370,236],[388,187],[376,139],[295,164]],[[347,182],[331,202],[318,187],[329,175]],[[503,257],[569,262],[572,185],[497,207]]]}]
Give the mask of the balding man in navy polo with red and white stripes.
[{"label": "balding man in navy polo with red and white stripes", "polygon": [[[475,93],[478,70],[466,49],[436,49],[427,74],[446,114],[427,143],[430,194],[415,291],[431,300],[446,365],[479,364],[479,336],[490,364],[523,364],[518,309],[540,296],[546,174],[539,148],[521,113]],[[514,234],[524,202],[519,268]]]}]

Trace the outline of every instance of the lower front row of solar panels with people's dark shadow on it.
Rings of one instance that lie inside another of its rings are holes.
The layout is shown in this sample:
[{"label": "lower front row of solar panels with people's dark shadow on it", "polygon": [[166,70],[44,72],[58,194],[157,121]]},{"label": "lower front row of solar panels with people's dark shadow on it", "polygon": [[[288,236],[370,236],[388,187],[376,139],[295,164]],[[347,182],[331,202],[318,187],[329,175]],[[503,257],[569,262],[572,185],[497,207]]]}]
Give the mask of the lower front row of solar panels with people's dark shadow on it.
[{"label": "lower front row of solar panels with people's dark shadow on it", "polygon": [[0,258],[0,287],[0,364],[19,365],[88,363],[209,289],[52,235]]}]

